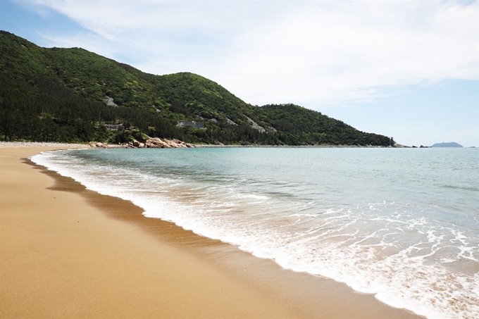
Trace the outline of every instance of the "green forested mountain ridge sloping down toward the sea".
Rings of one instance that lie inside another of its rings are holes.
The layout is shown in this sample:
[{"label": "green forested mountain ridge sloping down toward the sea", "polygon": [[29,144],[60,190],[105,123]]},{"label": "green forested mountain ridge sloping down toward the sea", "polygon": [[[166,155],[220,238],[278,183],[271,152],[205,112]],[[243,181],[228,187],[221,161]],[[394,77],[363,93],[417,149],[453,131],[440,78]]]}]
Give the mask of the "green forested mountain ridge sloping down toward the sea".
[{"label": "green forested mountain ridge sloping down toward the sea", "polygon": [[[122,126],[108,130],[113,124]],[[206,144],[394,144],[301,106],[252,106],[200,75],[151,75],[84,49],[46,49],[0,31],[1,140],[116,143],[147,136]]]}]

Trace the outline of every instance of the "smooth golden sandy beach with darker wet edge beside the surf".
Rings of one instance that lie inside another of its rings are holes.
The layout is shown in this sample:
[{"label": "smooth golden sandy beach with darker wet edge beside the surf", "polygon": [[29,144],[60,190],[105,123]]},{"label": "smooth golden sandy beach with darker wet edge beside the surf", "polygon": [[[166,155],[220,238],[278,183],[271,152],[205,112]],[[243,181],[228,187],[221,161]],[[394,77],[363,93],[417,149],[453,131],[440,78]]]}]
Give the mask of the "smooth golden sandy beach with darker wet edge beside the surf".
[{"label": "smooth golden sandy beach with darker wet edge beside the surf", "polygon": [[0,318],[419,318],[144,218],[0,146]]}]

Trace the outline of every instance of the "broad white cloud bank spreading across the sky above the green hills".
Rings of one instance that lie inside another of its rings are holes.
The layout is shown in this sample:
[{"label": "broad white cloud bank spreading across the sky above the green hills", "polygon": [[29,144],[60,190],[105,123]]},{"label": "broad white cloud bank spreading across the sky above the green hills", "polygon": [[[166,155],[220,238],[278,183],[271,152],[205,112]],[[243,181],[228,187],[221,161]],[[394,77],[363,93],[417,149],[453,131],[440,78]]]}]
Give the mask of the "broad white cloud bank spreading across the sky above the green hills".
[{"label": "broad white cloud bank spreading across the sky above the green hills", "polygon": [[354,105],[387,87],[479,80],[476,1],[21,1],[93,32],[46,35],[56,46],[199,73],[252,104]]}]

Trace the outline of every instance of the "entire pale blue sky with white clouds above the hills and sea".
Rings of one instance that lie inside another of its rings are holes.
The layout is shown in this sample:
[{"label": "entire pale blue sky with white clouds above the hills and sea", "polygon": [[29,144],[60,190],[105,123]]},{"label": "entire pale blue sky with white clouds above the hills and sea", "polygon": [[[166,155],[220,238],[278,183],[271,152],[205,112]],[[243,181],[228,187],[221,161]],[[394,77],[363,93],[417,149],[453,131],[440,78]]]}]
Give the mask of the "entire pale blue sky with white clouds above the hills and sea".
[{"label": "entire pale blue sky with white clouds above the hills and sea", "polygon": [[478,1],[0,0],[0,30],[399,144],[479,147]]}]

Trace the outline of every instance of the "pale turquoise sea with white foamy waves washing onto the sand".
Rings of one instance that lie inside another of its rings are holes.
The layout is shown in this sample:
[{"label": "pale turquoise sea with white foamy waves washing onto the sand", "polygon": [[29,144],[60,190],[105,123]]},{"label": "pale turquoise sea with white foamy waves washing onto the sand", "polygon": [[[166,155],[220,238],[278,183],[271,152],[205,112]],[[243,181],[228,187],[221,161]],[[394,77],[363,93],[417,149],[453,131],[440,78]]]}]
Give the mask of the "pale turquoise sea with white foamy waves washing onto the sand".
[{"label": "pale turquoise sea with white foamy waves washing onto the sand", "polygon": [[282,268],[479,318],[479,149],[80,149],[32,161]]}]

